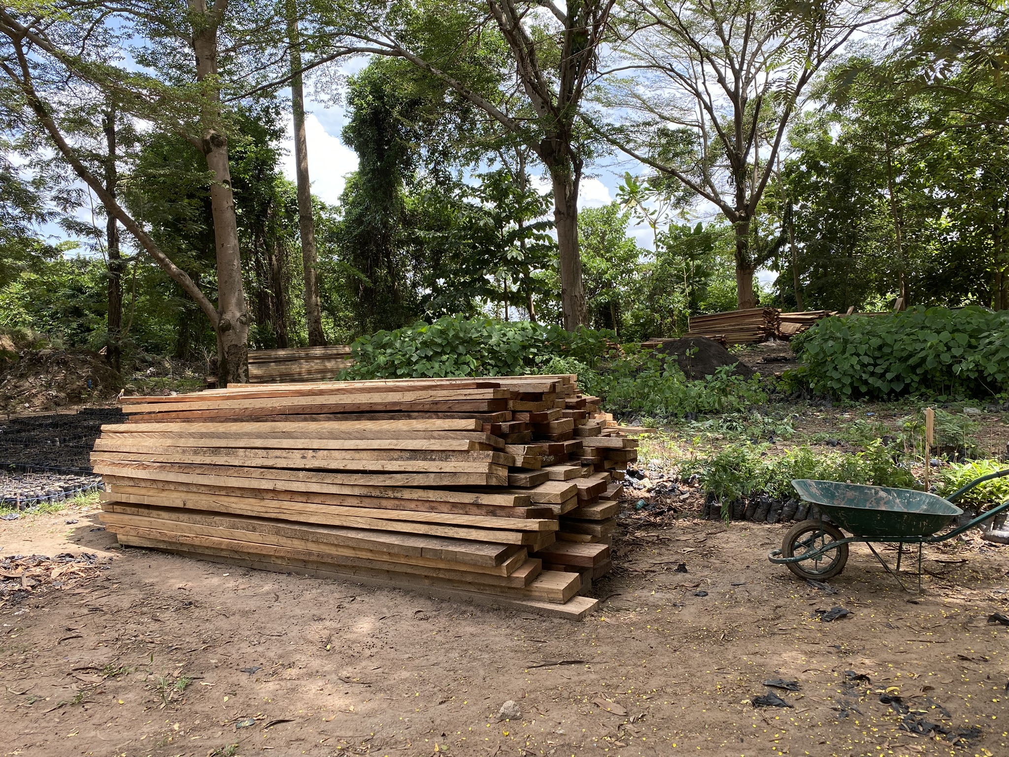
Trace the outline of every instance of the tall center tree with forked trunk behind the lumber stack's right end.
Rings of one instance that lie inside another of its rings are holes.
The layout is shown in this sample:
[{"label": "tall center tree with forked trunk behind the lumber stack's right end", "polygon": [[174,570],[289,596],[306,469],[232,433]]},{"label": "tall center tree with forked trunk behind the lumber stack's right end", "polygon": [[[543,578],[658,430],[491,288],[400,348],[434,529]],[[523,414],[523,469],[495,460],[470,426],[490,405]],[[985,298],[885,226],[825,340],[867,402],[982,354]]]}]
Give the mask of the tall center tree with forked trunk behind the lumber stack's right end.
[{"label": "tall center tree with forked trunk behind the lumber stack's right end", "polygon": [[[590,154],[579,112],[610,40],[615,0],[487,0],[395,4],[368,33],[362,51],[410,61],[443,81],[504,132],[528,145],[550,175],[554,194],[565,328],[586,323],[578,248],[578,189]],[[502,41],[498,68],[473,66],[481,46]],[[370,46],[368,46],[370,45]],[[503,66],[511,71],[507,76]]]}]

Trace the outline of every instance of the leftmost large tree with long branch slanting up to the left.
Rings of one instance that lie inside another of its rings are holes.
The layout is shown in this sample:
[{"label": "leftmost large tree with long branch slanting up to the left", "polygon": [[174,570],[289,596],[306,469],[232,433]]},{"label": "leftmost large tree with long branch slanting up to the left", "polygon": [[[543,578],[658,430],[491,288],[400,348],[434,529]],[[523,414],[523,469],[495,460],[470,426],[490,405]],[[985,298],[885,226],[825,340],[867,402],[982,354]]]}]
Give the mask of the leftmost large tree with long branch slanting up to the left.
[{"label": "leftmost large tree with long branch slanting up to the left", "polygon": [[[102,3],[66,8],[47,5],[32,12],[0,9],[0,70],[17,93],[5,107],[22,120],[30,113],[30,120],[95,193],[108,215],[118,219],[200,306],[217,335],[222,383],[247,381],[249,327],[218,67],[218,38],[226,8],[226,0],[210,6],[204,0],[188,0],[186,11],[180,14],[178,8],[147,6],[141,0],[107,7]],[[176,76],[181,72],[185,76],[184,69],[158,79],[116,66],[116,51],[123,47],[125,39],[136,35],[161,47],[159,51],[134,49],[149,71],[156,72],[165,61],[178,64],[180,44],[186,45],[192,56],[188,80]],[[109,193],[99,176],[104,173],[101,161],[96,164],[88,150],[72,143],[61,124],[61,106],[71,88],[78,96],[97,90],[101,99],[103,92],[114,93],[120,109],[178,130],[203,153],[211,175],[216,305]]]}]

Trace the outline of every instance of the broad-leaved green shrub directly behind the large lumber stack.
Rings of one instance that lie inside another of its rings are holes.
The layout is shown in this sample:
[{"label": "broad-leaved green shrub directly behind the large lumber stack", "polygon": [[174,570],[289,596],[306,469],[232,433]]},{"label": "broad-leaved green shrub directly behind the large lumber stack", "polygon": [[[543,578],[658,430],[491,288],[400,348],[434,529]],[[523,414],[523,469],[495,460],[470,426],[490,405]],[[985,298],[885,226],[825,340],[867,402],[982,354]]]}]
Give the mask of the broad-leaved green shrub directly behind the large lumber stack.
[{"label": "broad-leaved green shrub directly behind the large lumber stack", "polygon": [[529,321],[447,316],[396,331],[377,331],[352,345],[355,363],[341,379],[416,379],[521,375],[566,355],[592,364],[606,350],[609,331],[565,331]]}]

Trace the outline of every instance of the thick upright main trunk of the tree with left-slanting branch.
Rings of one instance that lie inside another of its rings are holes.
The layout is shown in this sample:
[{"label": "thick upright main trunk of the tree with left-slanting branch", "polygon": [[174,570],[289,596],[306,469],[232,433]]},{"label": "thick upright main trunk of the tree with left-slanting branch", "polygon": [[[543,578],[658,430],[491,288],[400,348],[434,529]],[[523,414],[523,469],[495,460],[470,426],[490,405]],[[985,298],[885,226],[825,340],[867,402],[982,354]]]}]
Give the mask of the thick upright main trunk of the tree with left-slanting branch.
[{"label": "thick upright main trunk of the tree with left-slanting branch", "polygon": [[[197,81],[217,75],[217,29],[225,0],[217,0],[210,11],[204,0],[189,0],[191,10],[203,15],[193,36]],[[242,288],[241,255],[238,248],[238,222],[231,191],[231,168],[228,164],[228,138],[218,131],[220,91],[207,93],[204,110],[204,133],[201,137],[207,168],[212,176],[210,207],[214,218],[214,242],[217,248],[217,357],[218,383],[248,383],[249,316]]]}]

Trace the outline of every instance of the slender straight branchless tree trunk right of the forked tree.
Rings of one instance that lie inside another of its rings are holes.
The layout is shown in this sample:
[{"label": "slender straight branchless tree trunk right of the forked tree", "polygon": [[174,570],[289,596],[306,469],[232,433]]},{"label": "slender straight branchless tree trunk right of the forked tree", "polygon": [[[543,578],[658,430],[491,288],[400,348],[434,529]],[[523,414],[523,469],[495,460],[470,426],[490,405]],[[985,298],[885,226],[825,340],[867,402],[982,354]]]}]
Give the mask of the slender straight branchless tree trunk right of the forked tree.
[{"label": "slender straight branchless tree trunk right of the forked tree", "polygon": [[309,146],[305,136],[305,94],[302,86],[301,34],[298,29],[298,6],[288,0],[288,42],[291,52],[291,110],[295,127],[295,174],[298,180],[298,226],[302,239],[305,269],[305,318],[309,327],[309,346],[326,343],[319,305],[319,256],[315,242],[315,218],[312,215],[312,183],[309,181]]}]

